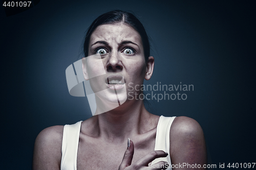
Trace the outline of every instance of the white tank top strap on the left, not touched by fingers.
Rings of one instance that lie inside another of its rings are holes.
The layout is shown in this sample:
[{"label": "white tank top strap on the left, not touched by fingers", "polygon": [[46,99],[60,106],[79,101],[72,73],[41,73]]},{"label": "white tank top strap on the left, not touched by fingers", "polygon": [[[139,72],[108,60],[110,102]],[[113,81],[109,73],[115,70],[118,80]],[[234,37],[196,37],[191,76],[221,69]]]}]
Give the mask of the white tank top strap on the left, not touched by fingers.
[{"label": "white tank top strap on the left, not touched by fingers", "polygon": [[81,123],[82,121],[64,126],[61,146],[61,170],[76,170]]}]

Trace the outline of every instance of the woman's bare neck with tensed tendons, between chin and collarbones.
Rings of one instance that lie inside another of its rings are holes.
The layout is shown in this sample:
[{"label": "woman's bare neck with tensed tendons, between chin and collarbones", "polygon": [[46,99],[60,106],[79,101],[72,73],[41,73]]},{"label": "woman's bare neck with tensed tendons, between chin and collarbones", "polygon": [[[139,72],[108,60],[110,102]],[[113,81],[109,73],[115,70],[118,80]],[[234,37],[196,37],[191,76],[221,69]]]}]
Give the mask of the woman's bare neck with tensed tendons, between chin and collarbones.
[{"label": "woman's bare neck with tensed tendons, between chin and collarbones", "polygon": [[[96,115],[99,134],[108,141],[127,140],[148,131],[152,114],[147,112],[143,101],[129,101],[111,111]],[[153,125],[155,126],[155,125]],[[150,130],[151,130],[150,129]]]}]

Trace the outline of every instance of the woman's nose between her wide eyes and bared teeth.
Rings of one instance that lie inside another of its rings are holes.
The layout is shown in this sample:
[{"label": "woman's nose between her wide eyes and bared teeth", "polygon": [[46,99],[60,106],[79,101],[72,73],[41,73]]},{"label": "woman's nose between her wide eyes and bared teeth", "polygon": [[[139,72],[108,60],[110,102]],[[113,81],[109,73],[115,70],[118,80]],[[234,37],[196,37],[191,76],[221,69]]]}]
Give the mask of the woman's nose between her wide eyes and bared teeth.
[{"label": "woman's nose between her wide eyes and bared teeth", "polygon": [[112,52],[109,55],[108,63],[106,64],[106,70],[110,72],[118,72],[121,71],[123,68],[122,62],[120,60],[120,56],[118,52]]}]

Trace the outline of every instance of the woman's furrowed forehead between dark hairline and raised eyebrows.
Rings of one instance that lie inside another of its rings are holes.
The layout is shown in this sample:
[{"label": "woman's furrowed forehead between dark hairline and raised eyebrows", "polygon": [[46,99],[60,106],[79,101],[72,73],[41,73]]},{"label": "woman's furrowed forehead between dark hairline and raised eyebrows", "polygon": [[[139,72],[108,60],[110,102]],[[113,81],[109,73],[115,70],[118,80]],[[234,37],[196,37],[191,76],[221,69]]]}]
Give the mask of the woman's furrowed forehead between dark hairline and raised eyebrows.
[{"label": "woman's furrowed forehead between dark hairline and raised eyebrows", "polygon": [[142,44],[140,34],[132,27],[123,24],[106,24],[98,26],[91,35],[90,44],[97,41],[116,42],[132,41],[138,45]]}]

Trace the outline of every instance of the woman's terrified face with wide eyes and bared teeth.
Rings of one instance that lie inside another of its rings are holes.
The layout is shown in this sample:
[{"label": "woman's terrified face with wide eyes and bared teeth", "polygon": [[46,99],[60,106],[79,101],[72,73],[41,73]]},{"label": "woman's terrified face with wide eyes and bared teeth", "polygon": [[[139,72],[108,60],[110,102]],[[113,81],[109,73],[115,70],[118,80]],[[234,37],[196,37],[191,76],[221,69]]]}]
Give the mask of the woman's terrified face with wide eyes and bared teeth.
[{"label": "woman's terrified face with wide eyes and bared teeth", "polygon": [[[140,93],[132,87],[143,84],[147,64],[141,37],[136,30],[124,23],[101,25],[92,33],[88,50],[89,56],[101,56],[106,72],[105,77],[90,80],[93,91],[108,89],[97,95],[101,100],[115,102],[118,94],[122,104],[129,99],[128,92],[130,95]],[[90,69],[94,72],[98,68],[93,66]]]}]

